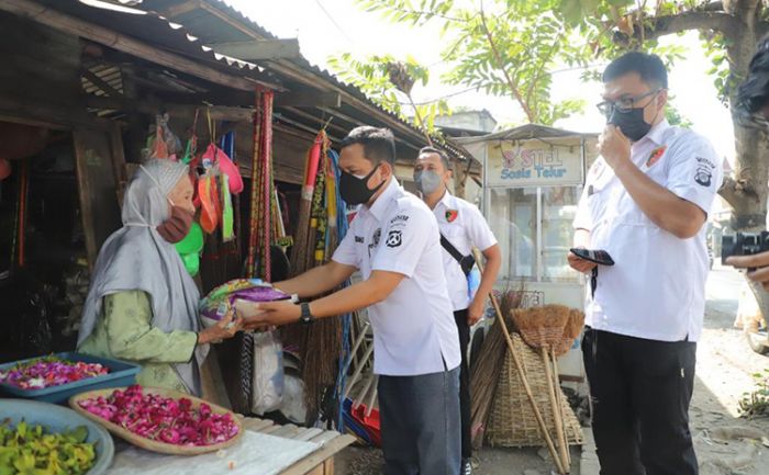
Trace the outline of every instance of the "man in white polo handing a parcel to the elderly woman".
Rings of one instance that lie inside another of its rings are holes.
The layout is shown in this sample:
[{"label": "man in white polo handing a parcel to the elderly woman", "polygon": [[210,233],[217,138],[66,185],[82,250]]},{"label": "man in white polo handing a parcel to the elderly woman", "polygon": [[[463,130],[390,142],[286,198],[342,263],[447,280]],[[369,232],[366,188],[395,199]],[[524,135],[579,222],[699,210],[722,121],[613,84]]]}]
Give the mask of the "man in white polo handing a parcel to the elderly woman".
[{"label": "man in white polo handing a parcel to the elderly woman", "polygon": [[358,127],[342,142],[339,182],[361,204],[332,261],[275,284],[300,297],[364,281],[310,304],[260,304],[246,327],[311,324],[368,307],[386,475],[458,475],[459,344],[446,290],[438,225],[393,177],[392,133]]}]

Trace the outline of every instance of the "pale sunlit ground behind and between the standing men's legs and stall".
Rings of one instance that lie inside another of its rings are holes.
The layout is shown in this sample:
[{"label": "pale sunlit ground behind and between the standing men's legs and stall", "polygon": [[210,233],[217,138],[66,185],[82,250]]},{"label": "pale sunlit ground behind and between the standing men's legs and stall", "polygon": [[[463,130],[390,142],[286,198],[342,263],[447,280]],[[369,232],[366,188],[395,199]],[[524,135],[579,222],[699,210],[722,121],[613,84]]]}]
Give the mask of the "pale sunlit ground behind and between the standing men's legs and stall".
[{"label": "pale sunlit ground behind and between the standing men's legs and stall", "polygon": [[[742,275],[717,263],[707,281],[707,310],[698,347],[691,430],[701,475],[769,474],[769,418],[745,420],[738,417],[738,402],[754,388],[753,373],[769,367],[769,358],[754,353],[742,330],[733,327]],[[580,454],[572,450],[572,474],[598,475],[599,466],[589,430]],[[765,437],[761,441],[761,437]],[[478,475],[549,475],[553,465],[535,449],[501,450],[484,448],[477,453]],[[353,446],[336,460],[341,475],[381,473],[381,452]],[[581,465],[581,466],[580,466]]]}]

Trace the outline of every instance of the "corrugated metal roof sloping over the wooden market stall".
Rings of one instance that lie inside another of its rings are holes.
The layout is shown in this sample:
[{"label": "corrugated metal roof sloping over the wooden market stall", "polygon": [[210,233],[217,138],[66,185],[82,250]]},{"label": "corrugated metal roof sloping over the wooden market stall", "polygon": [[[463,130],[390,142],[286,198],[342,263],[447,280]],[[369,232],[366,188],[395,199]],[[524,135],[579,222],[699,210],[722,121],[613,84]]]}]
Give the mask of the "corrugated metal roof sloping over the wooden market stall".
[{"label": "corrugated metal roof sloping over the wooden market stall", "polygon": [[[401,142],[408,140],[409,146],[414,149],[425,144],[421,131],[412,124],[372,102],[357,87],[339,81],[330,71],[312,65],[304,57],[258,61],[257,65],[215,53],[208,45],[255,38],[278,39],[242,12],[220,0],[145,0],[140,5],[141,14],[94,8],[77,0],[36,1],[62,13],[203,61],[233,76],[249,77],[255,81],[279,84],[289,90],[315,88],[344,92],[353,98],[353,103],[344,101],[338,110],[316,110],[314,115],[323,121],[330,114],[336,115],[339,121],[355,125],[379,122],[393,128],[397,138]],[[170,19],[164,16],[171,13],[174,14]],[[96,84],[87,81],[83,86],[90,90]],[[304,117],[305,123],[309,120]],[[314,122],[314,117],[310,122]],[[456,143],[438,142],[454,157],[471,157]]]}]

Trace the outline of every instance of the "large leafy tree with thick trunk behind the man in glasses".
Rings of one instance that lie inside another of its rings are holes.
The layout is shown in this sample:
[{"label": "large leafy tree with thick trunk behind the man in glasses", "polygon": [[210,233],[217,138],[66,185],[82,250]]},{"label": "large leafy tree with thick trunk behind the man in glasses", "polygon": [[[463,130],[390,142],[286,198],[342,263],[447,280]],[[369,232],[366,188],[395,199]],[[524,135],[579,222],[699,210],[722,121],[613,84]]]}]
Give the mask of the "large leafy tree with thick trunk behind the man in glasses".
[{"label": "large leafy tree with thick trunk behind the man in glasses", "polygon": [[[654,50],[670,64],[682,52],[661,48],[658,39],[689,31],[700,32],[713,60],[712,80],[724,104],[734,108],[736,84],[758,39],[769,33],[767,0],[477,0],[469,7],[458,0],[357,1],[395,22],[442,22],[449,39],[444,59],[454,64],[446,79],[512,95],[530,121],[540,123],[573,110],[548,101],[553,65],[586,66],[628,49]],[[734,210],[732,227],[756,231],[767,215],[769,140],[733,117],[735,177],[726,178],[720,193]]]}]

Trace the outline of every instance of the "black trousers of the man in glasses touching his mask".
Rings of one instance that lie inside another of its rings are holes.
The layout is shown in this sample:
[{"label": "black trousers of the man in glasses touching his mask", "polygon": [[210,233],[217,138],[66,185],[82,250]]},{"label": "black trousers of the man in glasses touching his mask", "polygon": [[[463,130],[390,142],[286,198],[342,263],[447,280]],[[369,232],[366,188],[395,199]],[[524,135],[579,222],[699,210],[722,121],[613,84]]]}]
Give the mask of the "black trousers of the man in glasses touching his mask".
[{"label": "black trousers of the man in glasses touching his mask", "polygon": [[689,431],[696,343],[586,329],[601,475],[696,475]]}]

